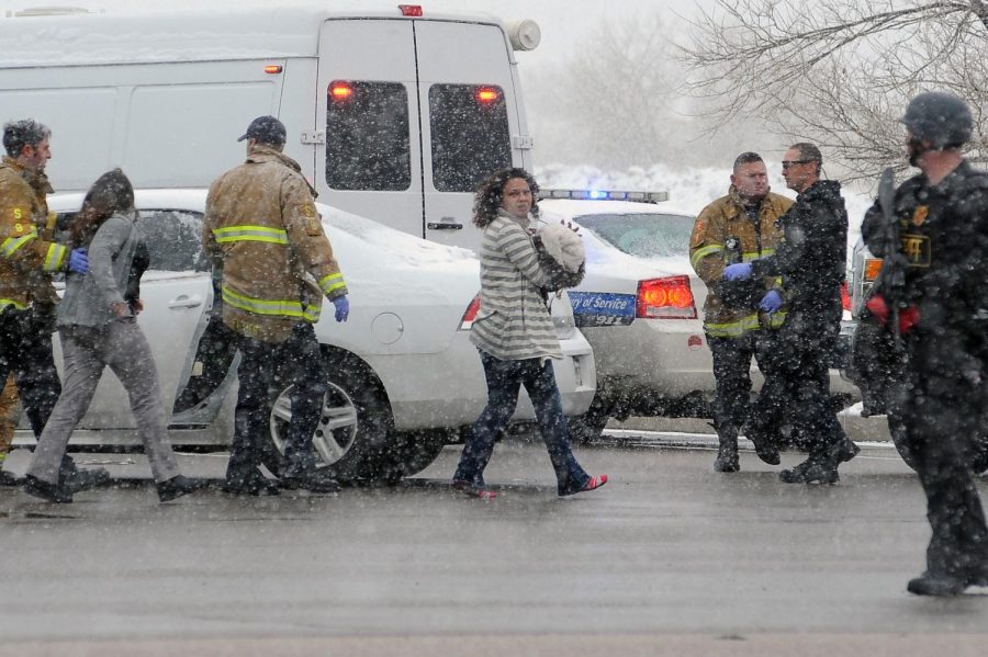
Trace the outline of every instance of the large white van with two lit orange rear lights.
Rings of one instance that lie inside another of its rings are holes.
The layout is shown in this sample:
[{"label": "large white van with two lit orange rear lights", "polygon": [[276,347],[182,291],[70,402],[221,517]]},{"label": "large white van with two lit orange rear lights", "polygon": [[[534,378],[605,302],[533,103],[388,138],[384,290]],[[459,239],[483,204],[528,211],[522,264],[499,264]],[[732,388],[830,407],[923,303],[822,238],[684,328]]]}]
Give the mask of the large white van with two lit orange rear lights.
[{"label": "large white van with two lit orange rear lights", "polygon": [[243,160],[250,120],[272,114],[321,202],[476,246],[476,183],[531,167],[514,49],[538,45],[538,25],[408,4],[276,4],[8,12],[0,120],[48,125],[53,184],[82,191],[112,167],[136,188],[207,186]]}]

